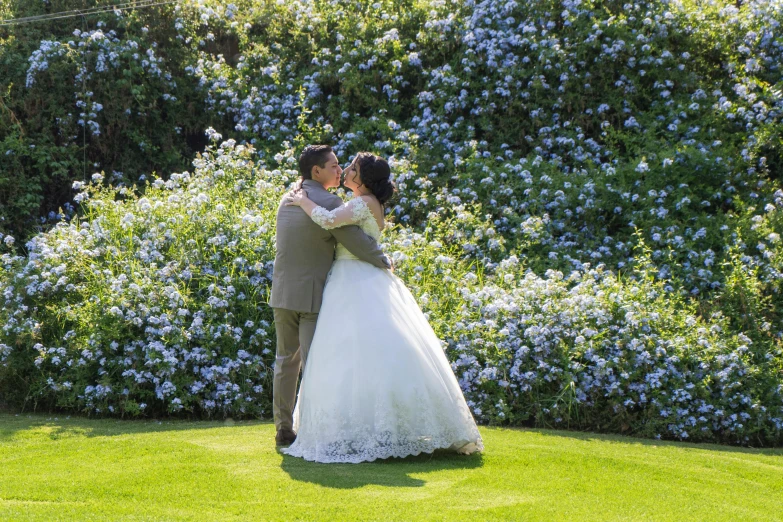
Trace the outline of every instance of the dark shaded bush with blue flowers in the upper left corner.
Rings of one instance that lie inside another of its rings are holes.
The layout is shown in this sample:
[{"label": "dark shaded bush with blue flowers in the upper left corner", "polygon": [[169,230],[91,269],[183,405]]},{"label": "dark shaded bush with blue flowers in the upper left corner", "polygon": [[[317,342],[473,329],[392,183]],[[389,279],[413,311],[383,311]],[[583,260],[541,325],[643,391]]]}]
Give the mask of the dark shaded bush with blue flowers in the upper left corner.
[{"label": "dark shaded bush with blue flowers in the upper left corner", "polygon": [[[0,17],[88,7],[14,5]],[[192,57],[169,45],[173,23],[139,10],[0,28],[0,232],[26,239],[72,216],[71,184],[96,170],[132,184],[188,167],[211,114],[182,78]]]}]

